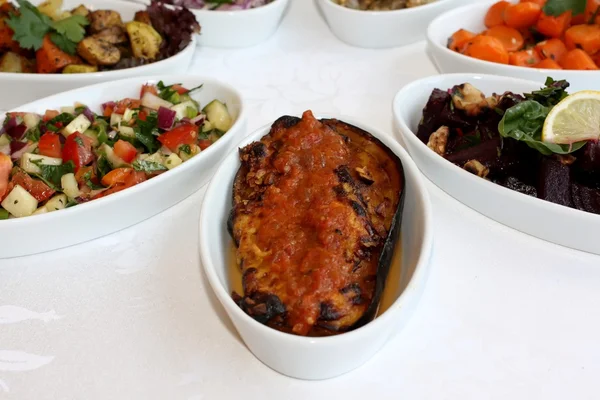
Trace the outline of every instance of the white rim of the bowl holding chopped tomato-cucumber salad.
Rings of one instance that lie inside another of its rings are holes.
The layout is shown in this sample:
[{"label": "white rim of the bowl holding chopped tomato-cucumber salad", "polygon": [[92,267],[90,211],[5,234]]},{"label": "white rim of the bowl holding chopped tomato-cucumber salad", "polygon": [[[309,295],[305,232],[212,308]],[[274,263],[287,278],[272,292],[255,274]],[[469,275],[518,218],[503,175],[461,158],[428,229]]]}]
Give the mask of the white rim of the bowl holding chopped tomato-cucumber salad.
[{"label": "white rim of the bowl holding chopped tomato-cucumber salad", "polygon": [[[139,76],[139,77],[135,78],[135,85],[137,87],[138,82],[142,82],[142,81],[158,82],[159,80],[166,80],[169,78],[175,78],[175,76],[172,76],[172,75]],[[199,76],[199,75],[184,75],[181,78],[182,78],[182,80],[188,79],[188,80],[199,81],[202,83],[213,84],[215,86],[218,86],[220,90],[223,90],[226,92],[228,91],[231,94],[233,94],[234,97],[237,97],[237,100],[240,105],[239,106],[240,110],[239,110],[238,116],[237,116],[235,122],[233,123],[233,125],[231,126],[231,128],[225,133],[225,135],[223,135],[223,137],[230,134],[229,138],[233,138],[233,135],[235,134],[235,132],[237,130],[243,129],[244,123],[246,121],[247,106],[244,101],[244,97],[242,96],[242,94],[239,90],[237,90],[233,86],[229,85],[228,83],[219,81],[214,78],[208,78],[208,77]],[[131,82],[132,79],[134,79],[134,78],[120,79],[117,81],[112,81],[108,84],[110,86],[121,86],[121,85],[132,86],[133,85],[133,82]],[[11,111],[28,108],[28,107],[30,107],[31,104],[53,101],[57,97],[65,97],[65,96],[68,96],[69,98],[75,97],[79,92],[99,89],[101,87],[105,87],[106,85],[107,85],[107,83],[104,82],[104,83],[96,83],[94,85],[84,86],[82,88],[72,89],[67,92],[54,94],[52,96],[48,96],[48,97],[36,100],[34,102],[24,104],[24,105],[19,106]],[[77,99],[73,99],[73,101],[77,101]],[[8,111],[8,112],[11,112],[11,111]],[[184,173],[184,171],[186,171],[190,168],[193,168],[194,165],[196,165],[199,162],[203,162],[204,158],[206,158],[206,156],[202,155],[203,153],[208,153],[209,155],[212,153],[215,153],[218,151],[218,149],[221,149],[222,147],[227,146],[229,141],[230,140],[219,139],[215,142],[215,144],[209,146],[207,149],[203,150],[200,154],[198,154],[195,157],[192,157],[189,161],[184,162],[177,168],[174,168],[173,170],[165,171],[165,173],[163,173],[163,174],[160,174],[152,179],[148,179],[148,180],[146,180],[140,184],[137,184],[133,187],[127,188],[126,190],[122,190],[120,192],[113,193],[110,196],[101,197],[96,200],[92,200],[92,201],[89,201],[89,202],[86,202],[83,204],[79,204],[74,207],[65,208],[63,210],[59,210],[59,212],[51,212],[51,213],[44,213],[44,214],[40,214],[40,215],[32,215],[32,216],[25,217],[25,218],[10,218],[10,219],[0,222],[0,230],[1,229],[11,229],[11,228],[14,228],[18,224],[34,223],[37,221],[39,221],[40,223],[44,223],[44,222],[50,223],[50,222],[53,222],[55,219],[68,217],[69,215],[74,214],[74,213],[85,212],[86,210],[89,210],[89,212],[93,212],[94,208],[98,209],[99,207],[103,207],[104,205],[109,205],[111,202],[112,203],[120,202],[124,196],[129,196],[136,192],[146,190],[146,188],[150,187],[150,185],[154,185],[154,186],[161,185],[164,180],[170,179],[174,174],[181,174],[181,173]],[[58,221],[56,221],[56,222],[58,222]]]}]

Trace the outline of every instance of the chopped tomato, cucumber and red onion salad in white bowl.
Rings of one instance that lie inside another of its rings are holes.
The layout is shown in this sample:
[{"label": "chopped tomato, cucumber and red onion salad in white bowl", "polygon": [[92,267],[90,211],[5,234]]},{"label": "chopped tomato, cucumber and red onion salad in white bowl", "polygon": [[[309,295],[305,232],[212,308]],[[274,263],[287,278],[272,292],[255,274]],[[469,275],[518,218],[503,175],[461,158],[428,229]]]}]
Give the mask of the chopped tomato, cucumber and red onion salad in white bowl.
[{"label": "chopped tomato, cucumber and red onion salad in white bowl", "polygon": [[99,199],[176,168],[233,124],[227,106],[203,109],[201,87],[144,85],[140,98],[44,115],[10,112],[0,131],[0,219]]}]

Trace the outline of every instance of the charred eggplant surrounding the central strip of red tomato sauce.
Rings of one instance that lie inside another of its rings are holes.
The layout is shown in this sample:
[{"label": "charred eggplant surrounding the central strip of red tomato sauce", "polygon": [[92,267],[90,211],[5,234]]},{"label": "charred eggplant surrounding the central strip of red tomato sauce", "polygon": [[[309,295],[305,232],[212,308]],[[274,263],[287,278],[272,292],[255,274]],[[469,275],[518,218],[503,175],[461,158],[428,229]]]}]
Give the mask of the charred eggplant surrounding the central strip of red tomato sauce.
[{"label": "charred eggplant surrounding the central strip of red tomato sauce", "polygon": [[[306,115],[305,113],[303,119]],[[261,277],[269,273],[268,268],[265,270],[262,266],[259,268],[259,272],[244,262],[244,254],[240,254],[240,244],[247,240],[244,239],[245,233],[243,232],[247,225],[240,221],[247,222],[248,218],[253,218],[254,216],[249,215],[253,208],[248,204],[262,204],[263,196],[266,196],[265,192],[268,188],[277,187],[279,179],[282,179],[281,171],[277,174],[267,170],[266,174],[258,174],[260,175],[258,177],[260,185],[252,183],[257,178],[256,172],[263,171],[264,167],[269,166],[270,157],[277,154],[279,147],[284,147],[284,144],[278,140],[267,140],[266,143],[269,144],[267,146],[263,143],[264,139],[274,132],[277,134],[282,130],[296,127],[303,119],[283,116],[273,123],[270,133],[261,141],[240,149],[241,166],[234,179],[233,207],[227,220],[227,228],[238,248],[238,265],[243,271],[244,294],[239,295],[234,292],[232,297],[249,316],[272,328],[300,335],[327,336],[357,329],[373,320],[377,314],[396,243],[400,237],[405,197],[404,170],[398,157],[368,132],[339,120],[323,119],[319,121],[324,129],[329,130],[330,135],[332,132],[339,135],[339,138],[342,139],[341,142],[345,143],[350,151],[369,149],[365,152],[364,157],[378,160],[378,163],[373,162],[372,165],[381,165],[382,168],[381,171],[375,171],[375,173],[379,174],[379,178],[382,174],[391,174],[390,182],[393,181],[395,185],[390,184],[390,187],[385,189],[387,192],[380,193],[377,191],[379,190],[378,184],[374,184],[375,178],[368,168],[355,168],[350,171],[348,165],[339,165],[333,170],[334,176],[339,182],[337,186],[331,188],[332,192],[335,192],[336,202],[351,210],[352,222],[358,224],[366,233],[360,238],[357,237],[360,239],[361,247],[354,256],[357,259],[354,268],[350,268],[351,272],[346,270],[347,273],[358,271],[356,276],[362,273],[363,275],[360,276],[363,281],[358,280],[339,287],[337,294],[333,294],[331,299],[324,299],[315,304],[318,311],[316,318],[313,318],[312,326],[306,329],[296,329],[297,325],[290,322],[295,312],[295,303],[286,302],[289,298],[280,288],[278,290],[275,287],[270,288],[257,284]],[[382,185],[379,184],[379,186]],[[392,209],[389,206],[387,209],[383,207],[383,211],[379,210],[380,207],[375,209],[370,202],[372,198],[383,199],[384,201],[381,201],[380,205],[388,200],[391,201],[393,212],[390,212]],[[388,212],[386,213],[385,210]],[[263,212],[264,210],[261,211],[261,215]],[[262,217],[268,218],[264,215]],[[341,230],[336,229],[335,231],[342,236]],[[369,266],[372,267],[375,262],[375,269],[368,270]],[[371,272],[371,275],[365,275]],[[352,311],[348,313],[348,309],[352,309]]]}]

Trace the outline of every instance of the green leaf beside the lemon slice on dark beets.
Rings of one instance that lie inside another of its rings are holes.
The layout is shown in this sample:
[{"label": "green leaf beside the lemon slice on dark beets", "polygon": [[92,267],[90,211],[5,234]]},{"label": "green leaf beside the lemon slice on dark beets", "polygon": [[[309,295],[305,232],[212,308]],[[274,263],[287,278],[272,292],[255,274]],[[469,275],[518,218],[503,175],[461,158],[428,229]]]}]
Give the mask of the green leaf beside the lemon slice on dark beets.
[{"label": "green leaf beside the lemon slice on dark beets", "polygon": [[498,131],[502,137],[525,142],[544,155],[569,154],[582,148],[586,142],[573,143],[571,146],[542,142],[542,128],[549,111],[549,107],[535,100],[525,100],[506,110]]}]

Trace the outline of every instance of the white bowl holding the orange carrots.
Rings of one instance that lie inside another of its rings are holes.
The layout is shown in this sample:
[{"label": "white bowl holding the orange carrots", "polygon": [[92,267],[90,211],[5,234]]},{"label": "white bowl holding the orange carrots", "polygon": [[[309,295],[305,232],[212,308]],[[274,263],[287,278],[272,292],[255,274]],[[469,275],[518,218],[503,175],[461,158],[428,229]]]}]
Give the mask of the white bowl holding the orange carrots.
[{"label": "white bowl holding the orange carrots", "polygon": [[[516,1],[515,1],[516,2]],[[517,67],[478,60],[450,50],[448,38],[459,29],[479,33],[486,29],[485,14],[494,2],[477,3],[448,11],[431,22],[427,28],[427,52],[442,74],[474,72],[512,76],[544,83],[546,77],[566,79],[572,90],[600,90],[600,71],[570,71]]]}]

